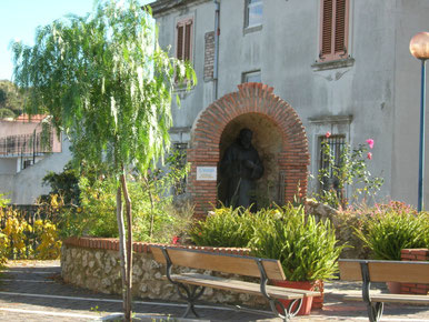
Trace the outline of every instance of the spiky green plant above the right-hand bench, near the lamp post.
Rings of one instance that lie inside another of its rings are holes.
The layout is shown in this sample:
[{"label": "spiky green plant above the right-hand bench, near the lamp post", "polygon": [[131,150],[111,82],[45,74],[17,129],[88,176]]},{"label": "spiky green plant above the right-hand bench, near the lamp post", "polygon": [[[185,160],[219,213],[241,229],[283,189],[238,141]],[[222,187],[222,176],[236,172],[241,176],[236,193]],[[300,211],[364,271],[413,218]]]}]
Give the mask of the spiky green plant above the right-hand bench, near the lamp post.
[{"label": "spiky green plant above the right-hand bench, near the lamp post", "polygon": [[429,248],[429,213],[401,202],[376,205],[365,223],[356,230],[378,260],[401,260],[402,249]]}]

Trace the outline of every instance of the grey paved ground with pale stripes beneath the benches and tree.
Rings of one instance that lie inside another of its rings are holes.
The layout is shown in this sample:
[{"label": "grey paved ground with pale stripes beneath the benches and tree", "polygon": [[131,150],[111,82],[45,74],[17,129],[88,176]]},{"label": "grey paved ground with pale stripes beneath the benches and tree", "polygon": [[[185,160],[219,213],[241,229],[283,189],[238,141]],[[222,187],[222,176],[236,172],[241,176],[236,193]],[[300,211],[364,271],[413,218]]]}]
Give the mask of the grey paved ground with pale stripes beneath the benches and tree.
[{"label": "grey paved ground with pale stripes beneath the benches and tree", "polygon": [[[94,293],[64,284],[59,261],[14,261],[0,275],[0,321],[102,321],[121,312],[117,295]],[[323,310],[292,321],[368,321],[360,302],[342,302],[341,295],[359,293],[359,283],[326,284]],[[382,285],[373,285],[378,292]],[[277,322],[270,312],[243,312],[225,306],[199,305],[200,320],[172,319],[184,311],[182,303],[149,302],[134,299],[139,321],[265,321]],[[171,318],[169,318],[171,316]],[[134,319],[138,320],[138,319]],[[429,306],[386,305],[382,321],[428,321]]]}]

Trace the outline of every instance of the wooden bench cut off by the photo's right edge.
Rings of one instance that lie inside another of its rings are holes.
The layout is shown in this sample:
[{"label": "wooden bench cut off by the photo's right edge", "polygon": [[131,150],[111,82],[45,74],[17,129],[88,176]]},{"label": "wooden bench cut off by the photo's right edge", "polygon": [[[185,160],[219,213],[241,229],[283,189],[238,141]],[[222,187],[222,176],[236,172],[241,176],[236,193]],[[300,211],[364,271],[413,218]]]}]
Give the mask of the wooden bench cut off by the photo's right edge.
[{"label": "wooden bench cut off by the photo's right edge", "polygon": [[370,294],[371,282],[429,283],[429,262],[339,260],[340,278],[362,281],[362,295],[345,300],[365,301],[369,321],[380,321],[383,303],[429,304],[428,295]]}]

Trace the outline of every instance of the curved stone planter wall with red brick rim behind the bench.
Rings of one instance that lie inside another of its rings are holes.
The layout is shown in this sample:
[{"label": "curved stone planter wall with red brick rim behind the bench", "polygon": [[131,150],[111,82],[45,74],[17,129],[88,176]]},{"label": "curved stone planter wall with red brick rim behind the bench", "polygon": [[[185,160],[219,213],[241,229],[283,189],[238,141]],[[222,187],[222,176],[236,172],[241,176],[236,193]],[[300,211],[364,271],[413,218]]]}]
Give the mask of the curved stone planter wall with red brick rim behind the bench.
[{"label": "curved stone planter wall with red brick rim behind the bench", "polygon": [[[150,252],[150,243],[133,243],[133,295],[141,299],[182,301],[173,285],[164,280],[166,266],[158,264]],[[247,255],[247,249],[184,246],[219,253]],[[173,270],[174,271],[174,270]],[[177,272],[189,272],[179,269]],[[201,273],[212,273],[209,271]],[[61,274],[66,282],[107,294],[121,294],[119,241],[117,239],[70,238],[62,243]],[[218,274],[231,278],[231,274]],[[237,276],[236,276],[237,278]],[[249,280],[249,279],[247,279]],[[259,282],[259,279],[257,279]],[[323,288],[320,283],[319,286]],[[202,301],[210,303],[240,304],[269,309],[262,296],[206,289]],[[323,298],[315,298],[313,309],[322,306]]]}]

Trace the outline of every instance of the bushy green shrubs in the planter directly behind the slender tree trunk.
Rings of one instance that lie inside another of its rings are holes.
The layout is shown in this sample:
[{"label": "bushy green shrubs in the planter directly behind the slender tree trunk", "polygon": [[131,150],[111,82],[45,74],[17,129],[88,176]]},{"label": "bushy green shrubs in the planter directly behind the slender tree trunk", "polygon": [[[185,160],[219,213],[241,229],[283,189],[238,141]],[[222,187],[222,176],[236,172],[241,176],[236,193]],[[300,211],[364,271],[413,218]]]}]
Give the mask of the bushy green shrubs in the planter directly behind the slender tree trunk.
[{"label": "bushy green shrubs in the planter directly behind the slender tree trunk", "polygon": [[[174,163],[173,158],[168,158],[168,161]],[[134,200],[131,204],[134,213],[132,230],[138,241],[171,242],[190,222],[192,209],[189,205],[174,207],[173,197],[169,191],[183,179],[189,167],[170,167],[151,171],[146,178],[137,172],[128,175],[129,194]],[[118,237],[116,180],[90,167],[81,168],[78,172],[80,194],[77,203],[67,203],[66,198],[51,194],[51,199],[56,198],[61,204],[60,234]],[[58,175],[62,178],[62,174]]]}]

